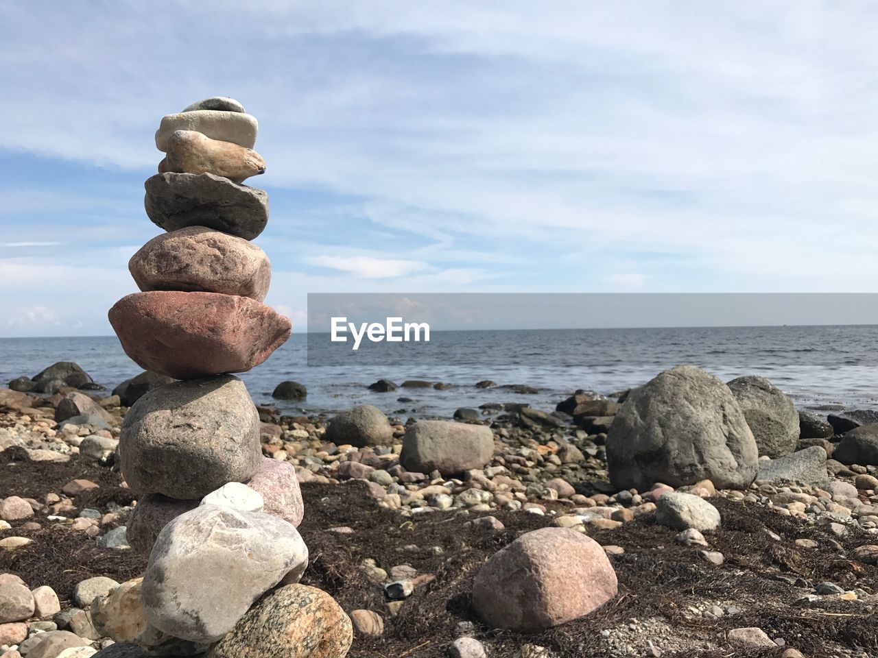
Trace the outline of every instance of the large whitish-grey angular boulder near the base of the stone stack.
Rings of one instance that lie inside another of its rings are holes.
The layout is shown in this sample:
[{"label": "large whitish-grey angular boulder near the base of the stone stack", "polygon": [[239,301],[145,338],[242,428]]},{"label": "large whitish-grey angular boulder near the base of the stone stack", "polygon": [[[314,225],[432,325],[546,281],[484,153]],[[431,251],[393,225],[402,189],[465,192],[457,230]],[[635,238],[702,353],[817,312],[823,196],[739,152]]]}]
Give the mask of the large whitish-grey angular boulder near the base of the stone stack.
[{"label": "large whitish-grey angular boulder near the base of the stone stack", "polygon": [[307,561],[305,542],[283,519],[202,505],[155,541],[143,576],[147,619],[176,638],[215,642],[284,576],[298,580]]}]

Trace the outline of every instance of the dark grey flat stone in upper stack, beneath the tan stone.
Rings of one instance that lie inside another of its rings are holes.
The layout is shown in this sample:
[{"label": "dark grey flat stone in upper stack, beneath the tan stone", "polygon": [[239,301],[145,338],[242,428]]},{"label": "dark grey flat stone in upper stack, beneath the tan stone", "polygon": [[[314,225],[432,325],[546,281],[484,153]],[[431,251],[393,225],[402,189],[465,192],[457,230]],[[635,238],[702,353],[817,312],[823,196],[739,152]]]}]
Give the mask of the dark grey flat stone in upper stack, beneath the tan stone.
[{"label": "dark grey flat stone in upper stack, beneath the tan stone", "polygon": [[166,231],[205,226],[253,240],[268,223],[268,195],[222,176],[159,174],[144,186],[147,215]]}]

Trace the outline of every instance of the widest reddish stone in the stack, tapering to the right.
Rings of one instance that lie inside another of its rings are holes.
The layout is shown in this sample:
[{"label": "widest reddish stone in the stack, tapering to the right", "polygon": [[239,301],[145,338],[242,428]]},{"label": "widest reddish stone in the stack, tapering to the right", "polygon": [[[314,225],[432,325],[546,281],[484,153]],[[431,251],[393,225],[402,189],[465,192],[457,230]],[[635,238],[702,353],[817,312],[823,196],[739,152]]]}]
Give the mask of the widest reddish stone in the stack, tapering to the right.
[{"label": "widest reddish stone in the stack, tapering to the right", "polygon": [[175,379],[246,372],[290,338],[290,320],[249,297],[161,290],[122,297],[109,313],[140,368]]}]

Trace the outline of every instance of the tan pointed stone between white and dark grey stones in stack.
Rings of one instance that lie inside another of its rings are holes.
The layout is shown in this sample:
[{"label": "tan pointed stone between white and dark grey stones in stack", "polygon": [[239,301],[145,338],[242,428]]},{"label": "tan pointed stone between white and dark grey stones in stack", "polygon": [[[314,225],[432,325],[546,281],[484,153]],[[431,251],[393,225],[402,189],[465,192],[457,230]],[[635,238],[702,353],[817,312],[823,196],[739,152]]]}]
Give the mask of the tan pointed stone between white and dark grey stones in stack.
[{"label": "tan pointed stone between white and dark grey stones in stack", "polygon": [[213,174],[240,183],[265,173],[265,161],[254,150],[200,132],[172,132],[167,147],[168,154],[159,163],[160,174]]}]

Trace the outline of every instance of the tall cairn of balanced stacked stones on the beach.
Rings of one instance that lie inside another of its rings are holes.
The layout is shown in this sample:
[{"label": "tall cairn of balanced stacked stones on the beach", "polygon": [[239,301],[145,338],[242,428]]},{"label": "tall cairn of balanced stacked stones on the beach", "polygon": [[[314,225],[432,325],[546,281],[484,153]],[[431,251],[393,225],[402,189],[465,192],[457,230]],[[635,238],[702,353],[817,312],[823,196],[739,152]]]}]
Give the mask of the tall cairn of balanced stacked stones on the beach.
[{"label": "tall cairn of balanced stacked stones on the beach", "polygon": [[155,133],[165,158],[146,182],[146,210],[166,232],[134,254],[141,292],[109,316],[133,361],[179,381],[126,415],[120,466],[138,495],[127,534],[149,561],[92,614],[117,642],[157,654],[335,658],[349,650],[350,620],[298,584],[308,563],[299,483],[290,463],[263,457],[259,414],[230,374],[265,361],[291,331],[262,303],[270,263],[249,242],[268,221],[266,193],[241,184],[265,171],[256,130],[240,103],[212,97]]}]

